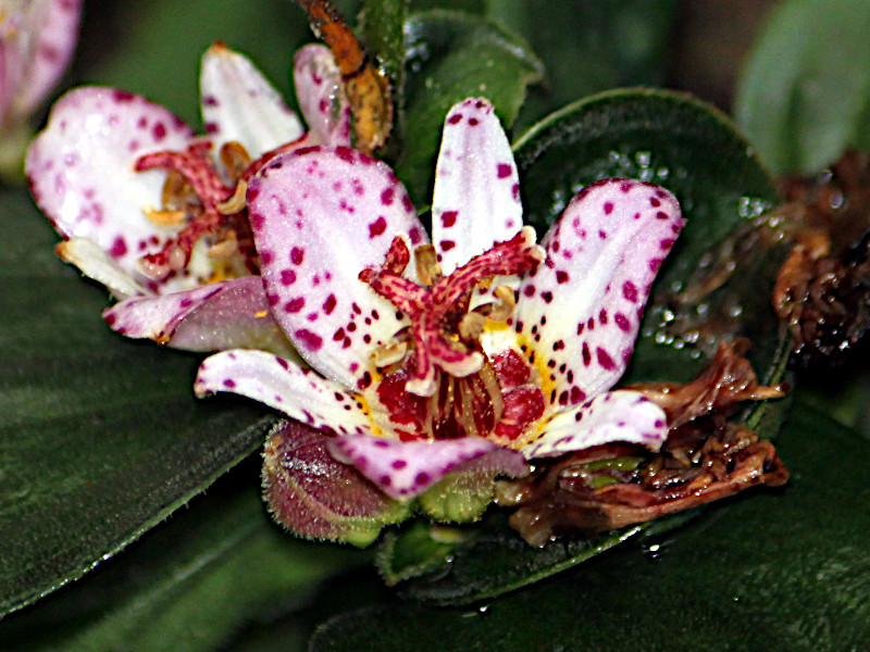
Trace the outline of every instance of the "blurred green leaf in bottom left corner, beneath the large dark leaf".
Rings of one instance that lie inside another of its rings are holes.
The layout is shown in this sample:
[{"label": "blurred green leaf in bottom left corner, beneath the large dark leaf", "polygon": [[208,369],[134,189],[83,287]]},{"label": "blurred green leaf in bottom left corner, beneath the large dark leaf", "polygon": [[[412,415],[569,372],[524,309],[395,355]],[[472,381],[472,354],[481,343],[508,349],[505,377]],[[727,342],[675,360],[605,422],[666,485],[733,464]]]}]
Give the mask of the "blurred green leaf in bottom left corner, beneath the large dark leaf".
[{"label": "blurred green leaf in bottom left corner, beneath the large dark leaf", "polygon": [[[304,599],[312,584],[368,554],[288,537],[265,515],[258,464],[75,586],[0,624],[4,650],[213,650],[252,620]],[[297,644],[310,625],[297,623]]]}]

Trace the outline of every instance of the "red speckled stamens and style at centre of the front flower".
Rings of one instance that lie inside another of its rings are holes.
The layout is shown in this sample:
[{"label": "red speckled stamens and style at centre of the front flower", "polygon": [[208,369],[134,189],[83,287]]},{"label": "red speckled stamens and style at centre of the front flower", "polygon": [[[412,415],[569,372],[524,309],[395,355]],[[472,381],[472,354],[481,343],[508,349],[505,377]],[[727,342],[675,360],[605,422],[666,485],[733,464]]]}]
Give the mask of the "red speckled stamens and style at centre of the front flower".
[{"label": "red speckled stamens and style at centre of the front flower", "polygon": [[529,272],[544,255],[534,230],[525,227],[445,277],[427,244],[414,252],[419,285],[401,275],[411,254],[397,237],[381,268],[360,273],[361,280],[410,322],[373,353],[375,364],[384,368],[378,399],[400,438],[514,440],[543,414],[544,396],[527,383],[527,363],[512,351],[506,353],[513,354],[509,365],[489,360],[480,343],[488,319],[509,317],[513,290],[500,286],[493,291],[493,302],[471,310],[470,304],[476,288],[488,287],[497,276]]}]

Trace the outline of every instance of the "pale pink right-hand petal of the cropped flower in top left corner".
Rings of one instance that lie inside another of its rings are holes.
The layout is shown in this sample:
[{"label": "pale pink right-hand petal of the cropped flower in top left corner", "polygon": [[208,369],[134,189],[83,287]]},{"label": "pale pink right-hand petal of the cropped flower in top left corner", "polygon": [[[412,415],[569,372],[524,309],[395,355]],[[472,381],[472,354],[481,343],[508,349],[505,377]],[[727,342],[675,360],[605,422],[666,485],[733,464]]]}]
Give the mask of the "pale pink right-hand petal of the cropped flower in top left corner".
[{"label": "pale pink right-hand petal of the cropped flower in top left corner", "polygon": [[[10,25],[14,33],[0,27],[2,40],[14,39],[11,46],[18,50],[14,115],[33,112],[63,75],[78,40],[80,16],[82,0],[33,0],[23,9],[20,23]],[[15,22],[14,11],[5,20]],[[9,68],[4,76],[11,76]]]}]

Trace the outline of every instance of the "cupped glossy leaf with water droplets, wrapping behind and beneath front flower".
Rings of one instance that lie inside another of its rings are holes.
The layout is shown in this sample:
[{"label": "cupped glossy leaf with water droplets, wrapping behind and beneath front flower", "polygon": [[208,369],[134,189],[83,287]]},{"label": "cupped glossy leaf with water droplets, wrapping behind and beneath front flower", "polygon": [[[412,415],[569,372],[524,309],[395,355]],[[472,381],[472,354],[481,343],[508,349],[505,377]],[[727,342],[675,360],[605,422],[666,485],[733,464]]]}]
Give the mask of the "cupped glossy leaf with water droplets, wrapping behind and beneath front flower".
[{"label": "cupped glossy leaf with water droplets, wrapping behind and beneath front flower", "polygon": [[[540,230],[575,192],[596,179],[627,176],[672,190],[687,224],[657,280],[659,288],[684,286],[711,244],[747,226],[760,206],[774,199],[767,173],[724,116],[685,96],[664,91],[623,90],[577,102],[534,127],[515,145],[514,152],[526,221]],[[742,302],[739,329],[722,337],[754,335],[753,361],[767,381],[782,376],[788,343],[769,302],[784,251],[774,253],[778,255],[765,253],[739,261],[734,278],[701,300],[711,311],[717,301],[724,301],[717,298],[720,296]],[[708,362],[708,351],[685,342],[657,343],[661,330],[656,319],[666,308],[654,304],[648,309],[630,381],[687,381]],[[776,435],[786,408],[784,402],[773,410],[756,404],[743,418],[771,437]],[[672,527],[680,518],[664,523]],[[664,527],[662,522],[644,524],[589,541],[533,549],[504,518],[490,518],[485,527],[472,528],[450,543],[450,562],[440,564],[434,579],[412,580],[407,592],[439,603],[487,599],[585,562],[650,526]],[[388,550],[380,557],[387,577],[406,579],[430,572],[434,565],[428,542],[419,531],[409,531],[413,541],[388,543],[402,552],[403,561],[393,560]],[[421,570],[402,573],[394,567]]]}]

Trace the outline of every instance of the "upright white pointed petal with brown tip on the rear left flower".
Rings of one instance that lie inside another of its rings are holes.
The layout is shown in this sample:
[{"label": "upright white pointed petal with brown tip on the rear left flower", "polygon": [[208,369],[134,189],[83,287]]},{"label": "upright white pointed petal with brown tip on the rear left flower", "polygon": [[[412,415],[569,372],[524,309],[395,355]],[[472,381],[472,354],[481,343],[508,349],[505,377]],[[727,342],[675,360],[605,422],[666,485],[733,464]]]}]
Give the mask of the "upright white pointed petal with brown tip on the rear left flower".
[{"label": "upright white pointed petal with brown tip on the rear left flower", "polygon": [[202,57],[199,83],[202,122],[215,149],[236,140],[259,159],[304,133],[296,113],[250,60],[222,43]]}]

